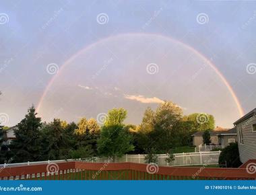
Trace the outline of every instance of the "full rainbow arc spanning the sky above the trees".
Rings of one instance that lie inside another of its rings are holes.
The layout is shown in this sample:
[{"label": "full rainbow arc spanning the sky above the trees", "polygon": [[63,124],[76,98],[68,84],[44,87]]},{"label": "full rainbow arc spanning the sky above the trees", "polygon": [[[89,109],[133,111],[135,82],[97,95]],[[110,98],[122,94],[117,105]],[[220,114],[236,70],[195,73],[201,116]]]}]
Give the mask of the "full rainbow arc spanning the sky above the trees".
[{"label": "full rainbow arc spanning the sky above the trees", "polygon": [[222,73],[218,70],[218,68],[209,60],[207,59],[203,54],[201,54],[199,51],[195,50],[195,48],[179,41],[179,40],[175,40],[174,38],[170,38],[168,36],[162,36],[160,34],[146,34],[146,33],[127,33],[127,34],[118,34],[116,36],[109,36],[107,38],[103,38],[101,40],[98,40],[97,42],[94,42],[88,46],[86,46],[86,48],[83,48],[82,50],[79,50],[79,52],[73,54],[73,56],[71,56],[67,61],[65,61],[65,63],[63,63],[63,65],[61,65],[61,68],[59,69],[58,73],[52,77],[52,79],[49,81],[49,83],[46,85],[44,92],[42,93],[42,96],[40,97],[40,100],[38,102],[38,106],[36,108],[36,112],[40,112],[40,108],[42,106],[42,102],[44,100],[44,97],[46,96],[46,94],[48,93],[49,89],[51,88],[51,85],[53,85],[55,79],[61,75],[61,72],[63,71],[63,69],[65,69],[65,67],[67,65],[69,65],[69,63],[71,63],[77,56],[79,56],[80,54],[86,52],[87,50],[90,50],[91,48],[93,48],[94,46],[97,46],[98,44],[102,43],[102,42],[106,42],[110,39],[113,38],[119,38],[121,36],[157,36],[158,38],[165,38],[168,39],[172,42],[175,42],[177,44],[180,44],[181,46],[191,50],[191,52],[193,52],[194,54],[196,54],[197,56],[199,56],[200,58],[202,58],[208,65],[210,65],[210,67],[216,72],[216,74],[218,75],[218,77],[220,77],[220,79],[222,80],[222,82],[226,85],[228,91],[230,92],[230,94],[232,95],[232,98],[237,106],[238,112],[240,114],[240,116],[244,116],[244,111],[243,108],[238,100],[238,97],[236,96],[236,93],[234,93],[234,89],[232,89],[232,87],[230,86],[230,84],[228,83],[228,81],[226,80],[226,78],[224,77],[224,75],[222,75]]}]

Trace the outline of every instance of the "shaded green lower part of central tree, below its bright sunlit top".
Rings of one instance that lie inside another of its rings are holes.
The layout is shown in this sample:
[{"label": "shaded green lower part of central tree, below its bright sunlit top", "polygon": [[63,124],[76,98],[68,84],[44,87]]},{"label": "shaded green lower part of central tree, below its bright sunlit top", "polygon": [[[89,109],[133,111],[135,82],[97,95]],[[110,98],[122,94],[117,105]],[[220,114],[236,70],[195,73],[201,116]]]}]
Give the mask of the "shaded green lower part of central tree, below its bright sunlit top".
[{"label": "shaded green lower part of central tree, below its bright sunlit top", "polygon": [[133,151],[132,138],[123,125],[102,126],[98,139],[98,153],[104,157],[121,157]]}]

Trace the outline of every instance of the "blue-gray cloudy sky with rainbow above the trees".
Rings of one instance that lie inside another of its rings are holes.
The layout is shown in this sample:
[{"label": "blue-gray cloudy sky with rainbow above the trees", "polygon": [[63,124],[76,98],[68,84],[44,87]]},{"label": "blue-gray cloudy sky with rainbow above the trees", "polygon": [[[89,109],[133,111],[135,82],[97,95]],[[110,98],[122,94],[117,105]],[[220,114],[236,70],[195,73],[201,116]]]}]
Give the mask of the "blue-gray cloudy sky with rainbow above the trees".
[{"label": "blue-gray cloudy sky with rainbow above the trees", "polygon": [[256,107],[256,1],[0,2],[0,122],[139,124],[164,100],[216,125]]}]

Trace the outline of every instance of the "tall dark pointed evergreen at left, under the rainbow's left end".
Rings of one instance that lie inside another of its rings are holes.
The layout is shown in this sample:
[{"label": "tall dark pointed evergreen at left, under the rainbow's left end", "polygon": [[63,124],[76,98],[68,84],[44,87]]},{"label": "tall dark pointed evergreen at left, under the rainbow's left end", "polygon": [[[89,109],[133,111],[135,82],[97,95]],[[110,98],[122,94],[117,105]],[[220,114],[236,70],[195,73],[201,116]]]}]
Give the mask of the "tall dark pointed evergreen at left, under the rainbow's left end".
[{"label": "tall dark pointed evergreen at left, under the rainbow's left end", "polygon": [[15,139],[11,141],[11,153],[17,162],[38,161],[40,159],[40,127],[41,118],[36,117],[34,106],[28,109],[28,114],[18,123],[14,130]]}]

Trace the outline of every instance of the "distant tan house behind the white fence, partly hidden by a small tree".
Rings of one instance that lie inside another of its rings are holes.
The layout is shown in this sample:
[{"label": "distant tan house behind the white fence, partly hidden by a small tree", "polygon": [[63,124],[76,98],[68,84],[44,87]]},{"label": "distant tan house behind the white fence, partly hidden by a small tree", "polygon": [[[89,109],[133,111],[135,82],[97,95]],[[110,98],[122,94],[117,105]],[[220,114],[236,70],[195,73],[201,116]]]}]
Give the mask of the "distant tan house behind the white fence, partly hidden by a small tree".
[{"label": "distant tan house behind the white fence, partly hidden by a small tree", "polygon": [[[214,130],[210,130],[212,145],[228,146],[230,143],[237,141],[236,128],[221,128],[217,126]],[[197,131],[192,134],[193,145],[197,148],[203,145],[203,131]]]}]

